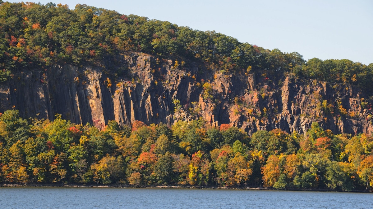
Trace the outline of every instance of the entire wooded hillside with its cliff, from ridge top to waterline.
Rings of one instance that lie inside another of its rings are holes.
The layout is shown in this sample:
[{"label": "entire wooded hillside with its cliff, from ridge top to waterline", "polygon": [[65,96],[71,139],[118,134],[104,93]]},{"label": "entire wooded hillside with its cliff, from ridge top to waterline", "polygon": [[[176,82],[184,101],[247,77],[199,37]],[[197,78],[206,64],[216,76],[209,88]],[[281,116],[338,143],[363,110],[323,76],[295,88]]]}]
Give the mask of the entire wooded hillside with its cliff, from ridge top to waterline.
[{"label": "entire wooded hillside with its cliff, from ridge top to waterline", "polygon": [[372,189],[373,64],[80,4],[0,31],[2,183]]}]

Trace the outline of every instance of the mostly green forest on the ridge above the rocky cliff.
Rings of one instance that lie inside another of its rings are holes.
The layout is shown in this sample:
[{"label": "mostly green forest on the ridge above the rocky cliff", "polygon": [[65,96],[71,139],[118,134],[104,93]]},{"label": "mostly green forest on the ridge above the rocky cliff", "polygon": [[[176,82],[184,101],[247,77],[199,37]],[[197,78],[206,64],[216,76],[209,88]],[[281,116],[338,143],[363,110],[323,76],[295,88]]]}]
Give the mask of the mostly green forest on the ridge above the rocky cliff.
[{"label": "mostly green forest on the ridge above the rocky cliff", "polygon": [[292,74],[357,85],[369,94],[373,90],[373,63],[318,58],[305,61],[298,52],[264,49],[215,31],[193,30],[85,4],[69,9],[51,2],[5,2],[0,6],[0,31],[0,81],[53,63],[105,65],[110,71],[118,54],[144,52],[191,59],[232,74]]}]

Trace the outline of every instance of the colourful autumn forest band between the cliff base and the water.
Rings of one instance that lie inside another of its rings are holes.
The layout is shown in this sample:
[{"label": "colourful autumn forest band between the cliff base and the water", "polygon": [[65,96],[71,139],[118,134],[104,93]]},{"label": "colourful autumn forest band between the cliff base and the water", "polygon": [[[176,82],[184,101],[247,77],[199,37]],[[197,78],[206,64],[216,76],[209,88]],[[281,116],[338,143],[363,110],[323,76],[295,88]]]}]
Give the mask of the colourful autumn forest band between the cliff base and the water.
[{"label": "colourful autumn forest band between the cliff base and the water", "polygon": [[111,120],[103,129],[60,115],[0,116],[0,182],[7,184],[190,185],[371,190],[373,137],[280,129],[248,137],[237,127],[179,120],[171,127]]}]

